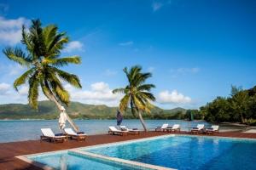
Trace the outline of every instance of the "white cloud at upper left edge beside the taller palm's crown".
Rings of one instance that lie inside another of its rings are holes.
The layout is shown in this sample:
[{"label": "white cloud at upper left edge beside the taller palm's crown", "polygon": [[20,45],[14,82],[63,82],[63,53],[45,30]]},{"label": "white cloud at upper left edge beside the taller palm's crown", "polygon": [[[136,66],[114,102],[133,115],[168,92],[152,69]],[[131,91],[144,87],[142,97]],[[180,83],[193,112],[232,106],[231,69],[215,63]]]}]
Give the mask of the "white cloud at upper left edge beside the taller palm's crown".
[{"label": "white cloud at upper left edge beside the taller palm's crown", "polygon": [[20,42],[22,25],[26,25],[28,20],[20,17],[14,20],[7,20],[0,16],[0,43],[15,45]]}]

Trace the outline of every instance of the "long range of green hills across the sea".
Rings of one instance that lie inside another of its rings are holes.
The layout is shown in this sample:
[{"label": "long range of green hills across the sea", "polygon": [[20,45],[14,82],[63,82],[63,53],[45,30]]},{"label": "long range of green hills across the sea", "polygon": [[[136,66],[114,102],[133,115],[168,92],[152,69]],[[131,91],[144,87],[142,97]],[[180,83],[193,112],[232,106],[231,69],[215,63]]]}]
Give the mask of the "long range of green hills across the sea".
[{"label": "long range of green hills across the sea", "polygon": [[[113,119],[116,116],[117,107],[107,105],[87,105],[79,102],[71,102],[67,107],[67,113],[73,118],[79,119]],[[183,118],[185,109],[175,108],[172,110],[162,110],[154,107],[150,114],[143,116],[148,119],[176,119]],[[29,105],[7,104],[0,105],[0,119],[55,119],[59,116],[59,111],[53,102],[40,101],[38,111],[32,110]],[[125,118],[134,118],[131,111],[124,114]]]}]

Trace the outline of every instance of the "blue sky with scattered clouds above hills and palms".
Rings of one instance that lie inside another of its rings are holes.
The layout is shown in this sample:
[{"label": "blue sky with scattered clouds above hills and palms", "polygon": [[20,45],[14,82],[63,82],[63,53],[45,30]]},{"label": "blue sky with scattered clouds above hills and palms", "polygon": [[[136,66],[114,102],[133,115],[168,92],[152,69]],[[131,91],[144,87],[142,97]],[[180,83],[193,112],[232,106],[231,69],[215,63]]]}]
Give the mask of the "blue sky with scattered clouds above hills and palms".
[{"label": "blue sky with scattered clouds above hills and palms", "polygon": [[[63,56],[83,59],[63,68],[82,81],[81,90],[66,86],[73,100],[117,105],[111,90],[125,85],[122,69],[142,65],[153,74],[155,105],[198,108],[231,85],[256,84],[255,8],[249,0],[0,0],[0,49],[20,46],[20,26],[39,18],[67,31]],[[27,87],[11,87],[24,70],[0,54],[0,103],[26,103]]]}]

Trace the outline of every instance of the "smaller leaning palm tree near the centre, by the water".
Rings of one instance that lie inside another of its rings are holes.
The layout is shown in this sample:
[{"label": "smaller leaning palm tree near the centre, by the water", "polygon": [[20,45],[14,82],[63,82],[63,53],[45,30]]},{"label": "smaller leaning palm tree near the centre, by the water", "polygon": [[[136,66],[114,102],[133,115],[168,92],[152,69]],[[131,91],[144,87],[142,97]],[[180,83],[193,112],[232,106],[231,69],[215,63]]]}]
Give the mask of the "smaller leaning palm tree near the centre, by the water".
[{"label": "smaller leaning palm tree near the centre, by the water", "polygon": [[147,127],[143,120],[142,111],[150,112],[154,107],[150,102],[154,101],[154,95],[150,93],[151,88],[155,88],[154,84],[145,84],[150,72],[142,73],[142,67],[139,65],[132,66],[130,71],[125,67],[123,70],[128,79],[129,84],[125,88],[117,88],[113,90],[113,94],[121,93],[125,96],[120,100],[119,110],[126,111],[128,105],[131,106],[133,116],[138,115],[143,128],[147,131]]}]

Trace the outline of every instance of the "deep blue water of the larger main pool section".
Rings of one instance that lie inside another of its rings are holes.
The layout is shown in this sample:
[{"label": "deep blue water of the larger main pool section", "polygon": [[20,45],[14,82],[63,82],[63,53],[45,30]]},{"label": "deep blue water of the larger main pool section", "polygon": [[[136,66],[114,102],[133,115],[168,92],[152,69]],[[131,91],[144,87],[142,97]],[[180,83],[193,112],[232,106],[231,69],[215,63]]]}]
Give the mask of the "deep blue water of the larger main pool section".
[{"label": "deep blue water of the larger main pool section", "polygon": [[177,169],[256,169],[255,140],[175,136],[85,150]]}]

